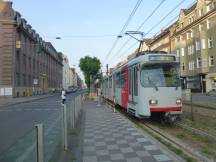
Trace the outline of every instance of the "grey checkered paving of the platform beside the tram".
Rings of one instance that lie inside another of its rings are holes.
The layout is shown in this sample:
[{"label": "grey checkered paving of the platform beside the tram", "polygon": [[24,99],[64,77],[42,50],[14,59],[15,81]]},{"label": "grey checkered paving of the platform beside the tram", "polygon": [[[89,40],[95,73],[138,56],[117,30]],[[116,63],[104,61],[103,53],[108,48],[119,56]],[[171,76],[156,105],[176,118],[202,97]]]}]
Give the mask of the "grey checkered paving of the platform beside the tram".
[{"label": "grey checkered paving of the platform beside the tram", "polygon": [[153,143],[139,128],[106,106],[85,109],[83,162],[179,161]]}]

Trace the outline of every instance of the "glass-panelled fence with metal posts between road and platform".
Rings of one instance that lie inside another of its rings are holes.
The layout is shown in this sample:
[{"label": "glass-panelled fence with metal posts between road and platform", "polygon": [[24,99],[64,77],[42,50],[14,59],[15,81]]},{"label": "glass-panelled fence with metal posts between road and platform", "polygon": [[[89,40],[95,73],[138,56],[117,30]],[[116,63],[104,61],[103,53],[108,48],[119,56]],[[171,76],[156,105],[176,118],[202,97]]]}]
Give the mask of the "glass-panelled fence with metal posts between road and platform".
[{"label": "glass-panelled fence with metal posts between road and platform", "polygon": [[49,162],[68,149],[68,131],[76,128],[85,92],[71,95],[65,105],[43,123],[38,123],[8,150],[0,162]]}]

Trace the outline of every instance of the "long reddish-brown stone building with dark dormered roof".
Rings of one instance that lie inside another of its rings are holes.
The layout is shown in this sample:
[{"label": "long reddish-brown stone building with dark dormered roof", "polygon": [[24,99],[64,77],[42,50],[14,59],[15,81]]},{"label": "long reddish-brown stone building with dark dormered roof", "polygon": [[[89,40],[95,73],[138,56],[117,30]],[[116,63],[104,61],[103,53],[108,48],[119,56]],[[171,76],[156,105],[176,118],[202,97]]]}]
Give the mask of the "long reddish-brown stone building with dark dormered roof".
[{"label": "long reddish-brown stone building with dark dormered roof", "polygon": [[62,87],[62,54],[0,0],[0,97],[29,96]]}]

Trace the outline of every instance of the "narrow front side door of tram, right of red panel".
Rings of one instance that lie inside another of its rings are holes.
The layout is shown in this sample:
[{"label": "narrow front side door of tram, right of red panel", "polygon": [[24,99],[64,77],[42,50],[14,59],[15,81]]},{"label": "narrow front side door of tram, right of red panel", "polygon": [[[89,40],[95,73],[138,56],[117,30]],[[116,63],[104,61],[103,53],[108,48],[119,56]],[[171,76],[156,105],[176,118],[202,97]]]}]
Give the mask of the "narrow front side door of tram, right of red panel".
[{"label": "narrow front side door of tram, right of red panel", "polygon": [[138,68],[132,66],[129,68],[129,102],[136,108],[138,103]]}]

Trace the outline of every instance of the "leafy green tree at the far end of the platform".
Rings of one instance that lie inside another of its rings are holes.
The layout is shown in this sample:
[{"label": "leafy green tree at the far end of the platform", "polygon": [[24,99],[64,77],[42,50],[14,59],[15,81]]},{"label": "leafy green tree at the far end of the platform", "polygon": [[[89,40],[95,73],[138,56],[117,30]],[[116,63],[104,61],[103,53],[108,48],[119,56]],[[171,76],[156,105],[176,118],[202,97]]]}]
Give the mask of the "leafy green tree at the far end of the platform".
[{"label": "leafy green tree at the far end of the platform", "polygon": [[92,78],[98,74],[100,66],[101,62],[96,57],[85,56],[80,59],[79,67],[84,74],[85,83],[88,88],[90,88],[90,84],[93,81]]}]

